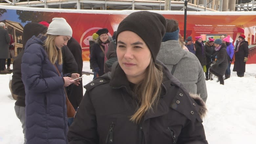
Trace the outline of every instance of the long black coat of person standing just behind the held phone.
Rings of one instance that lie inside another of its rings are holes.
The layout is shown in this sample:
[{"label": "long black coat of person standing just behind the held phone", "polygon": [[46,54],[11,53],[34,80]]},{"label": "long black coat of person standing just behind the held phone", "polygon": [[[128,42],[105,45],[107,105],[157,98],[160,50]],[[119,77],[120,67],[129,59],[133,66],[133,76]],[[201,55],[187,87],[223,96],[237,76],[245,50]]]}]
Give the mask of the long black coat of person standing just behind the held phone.
[{"label": "long black coat of person standing just behind the held phone", "polygon": [[[82,48],[80,44],[73,38],[68,41],[67,44],[69,50],[73,54],[75,58],[75,62],[78,66],[78,72],[80,76],[82,76],[82,69],[83,69],[83,59],[82,59]],[[74,108],[77,108],[83,98],[83,83],[82,80],[79,81],[80,84],[78,86],[75,86],[74,84],[68,86],[71,92],[69,93],[69,100]]]}]

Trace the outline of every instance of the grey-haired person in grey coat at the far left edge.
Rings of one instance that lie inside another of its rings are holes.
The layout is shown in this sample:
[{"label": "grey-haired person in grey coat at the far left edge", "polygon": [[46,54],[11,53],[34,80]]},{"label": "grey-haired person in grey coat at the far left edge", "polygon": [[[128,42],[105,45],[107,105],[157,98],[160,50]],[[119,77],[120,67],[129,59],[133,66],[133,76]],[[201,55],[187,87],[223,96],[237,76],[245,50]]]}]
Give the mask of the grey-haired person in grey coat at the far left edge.
[{"label": "grey-haired person in grey coat at the far left edge", "polygon": [[5,29],[5,23],[0,23],[0,73],[5,72],[5,60],[9,55],[10,36]]}]

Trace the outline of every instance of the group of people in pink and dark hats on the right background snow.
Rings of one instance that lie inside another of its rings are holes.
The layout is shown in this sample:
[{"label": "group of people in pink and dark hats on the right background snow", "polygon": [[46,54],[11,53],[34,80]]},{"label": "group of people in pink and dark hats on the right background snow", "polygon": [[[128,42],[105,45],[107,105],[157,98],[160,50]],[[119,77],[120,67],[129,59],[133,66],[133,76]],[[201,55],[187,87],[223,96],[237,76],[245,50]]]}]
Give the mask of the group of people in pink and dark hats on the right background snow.
[{"label": "group of people in pink and dark hats on the right background snow", "polygon": [[196,36],[195,42],[193,42],[192,37],[189,36],[185,41],[188,50],[199,59],[205,72],[205,80],[209,80],[209,75],[212,73],[218,77],[220,84],[224,85],[224,79],[230,77],[232,62],[234,62],[233,72],[237,72],[238,77],[243,77],[248,60],[248,42],[245,41],[245,35],[239,35],[235,48],[230,35],[226,37],[222,35],[219,39],[212,37],[208,37],[208,39],[204,43],[202,36]]}]

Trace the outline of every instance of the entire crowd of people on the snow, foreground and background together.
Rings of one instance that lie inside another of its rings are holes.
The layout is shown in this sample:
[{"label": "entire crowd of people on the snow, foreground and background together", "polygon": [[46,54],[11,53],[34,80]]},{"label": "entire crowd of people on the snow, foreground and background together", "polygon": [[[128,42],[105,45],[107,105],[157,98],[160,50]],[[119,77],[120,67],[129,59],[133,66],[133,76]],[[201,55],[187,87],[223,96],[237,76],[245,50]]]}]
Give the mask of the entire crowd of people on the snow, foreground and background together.
[{"label": "entire crowd of people on the snow, foreground and background together", "polygon": [[[0,31],[8,51],[13,49],[2,23]],[[233,71],[243,77],[248,60],[244,34],[235,49],[224,35],[206,43],[202,36],[195,41],[189,36],[183,42],[177,20],[133,12],[112,37],[107,28],[92,35],[94,78],[83,94],[81,79],[74,80],[82,75],[81,46],[72,34],[64,18],[24,26],[11,83],[24,144],[207,144],[205,80],[214,74],[224,85],[232,61]],[[6,71],[8,51],[0,54],[0,72]],[[68,101],[75,116],[68,117]]]}]

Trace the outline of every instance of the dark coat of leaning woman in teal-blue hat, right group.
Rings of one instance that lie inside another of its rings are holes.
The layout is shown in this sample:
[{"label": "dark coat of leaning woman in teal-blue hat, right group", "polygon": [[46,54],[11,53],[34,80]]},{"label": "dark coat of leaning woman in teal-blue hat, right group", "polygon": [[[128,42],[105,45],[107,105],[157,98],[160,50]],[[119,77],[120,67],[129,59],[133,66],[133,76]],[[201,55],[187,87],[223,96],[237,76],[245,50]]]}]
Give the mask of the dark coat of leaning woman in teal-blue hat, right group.
[{"label": "dark coat of leaning woman in teal-blue hat, right group", "polygon": [[221,44],[221,48],[217,54],[216,62],[210,67],[210,72],[215,75],[224,75],[228,66],[227,59],[227,46],[226,44]]}]

